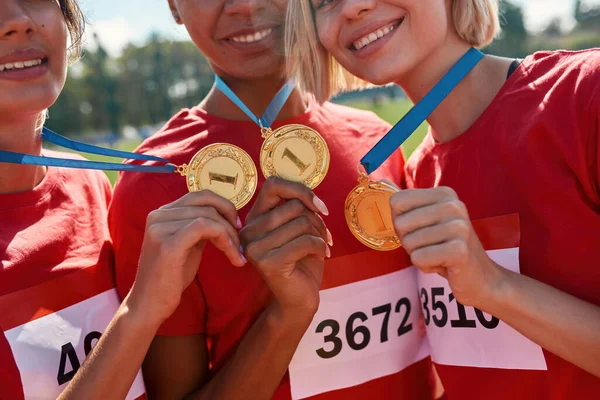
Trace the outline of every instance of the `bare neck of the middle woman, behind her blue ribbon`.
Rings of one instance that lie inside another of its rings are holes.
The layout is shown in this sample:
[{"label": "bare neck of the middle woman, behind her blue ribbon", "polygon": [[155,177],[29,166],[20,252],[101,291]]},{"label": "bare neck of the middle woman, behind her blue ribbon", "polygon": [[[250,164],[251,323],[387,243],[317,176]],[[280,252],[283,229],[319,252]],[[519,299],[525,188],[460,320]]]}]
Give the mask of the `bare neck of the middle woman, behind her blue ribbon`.
[{"label": "bare neck of the middle woman, behind her blue ribbon", "polygon": [[[279,77],[266,77],[261,79],[237,79],[229,76],[221,77],[227,86],[246,104],[254,115],[260,117],[285,80]],[[285,103],[277,120],[288,119],[301,115],[306,111],[306,104],[298,90],[294,90]],[[247,121],[248,116],[239,109],[227,96],[215,86],[200,103],[200,108],[211,115],[229,119]]]}]

